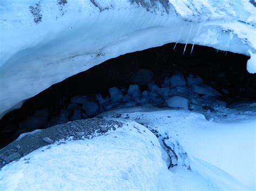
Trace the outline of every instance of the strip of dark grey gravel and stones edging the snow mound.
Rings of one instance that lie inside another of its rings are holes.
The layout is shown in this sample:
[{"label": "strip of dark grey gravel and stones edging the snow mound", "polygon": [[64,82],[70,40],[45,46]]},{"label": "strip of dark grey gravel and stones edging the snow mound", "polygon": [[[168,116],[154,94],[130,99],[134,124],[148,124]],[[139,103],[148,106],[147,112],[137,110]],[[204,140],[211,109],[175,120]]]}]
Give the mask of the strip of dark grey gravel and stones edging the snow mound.
[{"label": "strip of dark grey gravel and stones edging the snow mound", "polygon": [[[116,130],[117,127],[120,128],[122,126],[123,123],[119,121],[111,121],[97,117],[56,125],[40,131],[36,130],[31,133],[25,133],[23,136],[0,150],[0,169],[4,165],[18,160],[40,147],[59,142],[60,140],[66,140],[70,137],[72,137],[73,140],[78,140],[100,136],[101,133],[105,133],[111,129]],[[95,134],[95,132],[100,133]],[[62,143],[65,142],[62,141]]]}]

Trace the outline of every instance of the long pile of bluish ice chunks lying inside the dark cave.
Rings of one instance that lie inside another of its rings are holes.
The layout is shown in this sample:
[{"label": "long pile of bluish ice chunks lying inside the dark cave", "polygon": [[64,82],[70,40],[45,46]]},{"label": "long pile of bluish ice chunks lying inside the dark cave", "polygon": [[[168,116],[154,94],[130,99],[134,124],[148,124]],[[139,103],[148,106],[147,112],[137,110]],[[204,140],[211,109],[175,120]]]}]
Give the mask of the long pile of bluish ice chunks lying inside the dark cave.
[{"label": "long pile of bluish ice chunks lying inside the dark cave", "polygon": [[[145,86],[130,84],[128,88],[112,87],[109,95],[96,94],[94,98],[87,95],[73,96],[65,109],[48,122],[48,110],[39,110],[20,123],[21,129],[29,131],[63,124],[68,121],[95,117],[98,114],[114,109],[134,106],[154,106],[158,108],[189,109],[196,111],[214,111],[215,107],[226,107],[221,94],[203,83],[200,76],[184,77],[175,74],[166,77],[159,86],[149,82]],[[90,97],[90,99],[89,99]],[[220,99],[219,99],[220,98]],[[35,125],[34,125],[35,124]]]}]

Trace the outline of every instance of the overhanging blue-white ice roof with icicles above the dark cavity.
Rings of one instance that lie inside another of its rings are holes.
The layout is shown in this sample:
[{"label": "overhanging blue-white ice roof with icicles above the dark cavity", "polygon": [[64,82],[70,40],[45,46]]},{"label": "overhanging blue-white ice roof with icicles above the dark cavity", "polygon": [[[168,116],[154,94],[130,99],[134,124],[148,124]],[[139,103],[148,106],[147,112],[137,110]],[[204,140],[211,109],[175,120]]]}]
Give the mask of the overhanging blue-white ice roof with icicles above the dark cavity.
[{"label": "overhanging blue-white ice roof with icicles above the dark cavity", "polygon": [[250,55],[256,73],[255,9],[247,0],[2,0],[0,118],[105,60],[172,42]]}]

